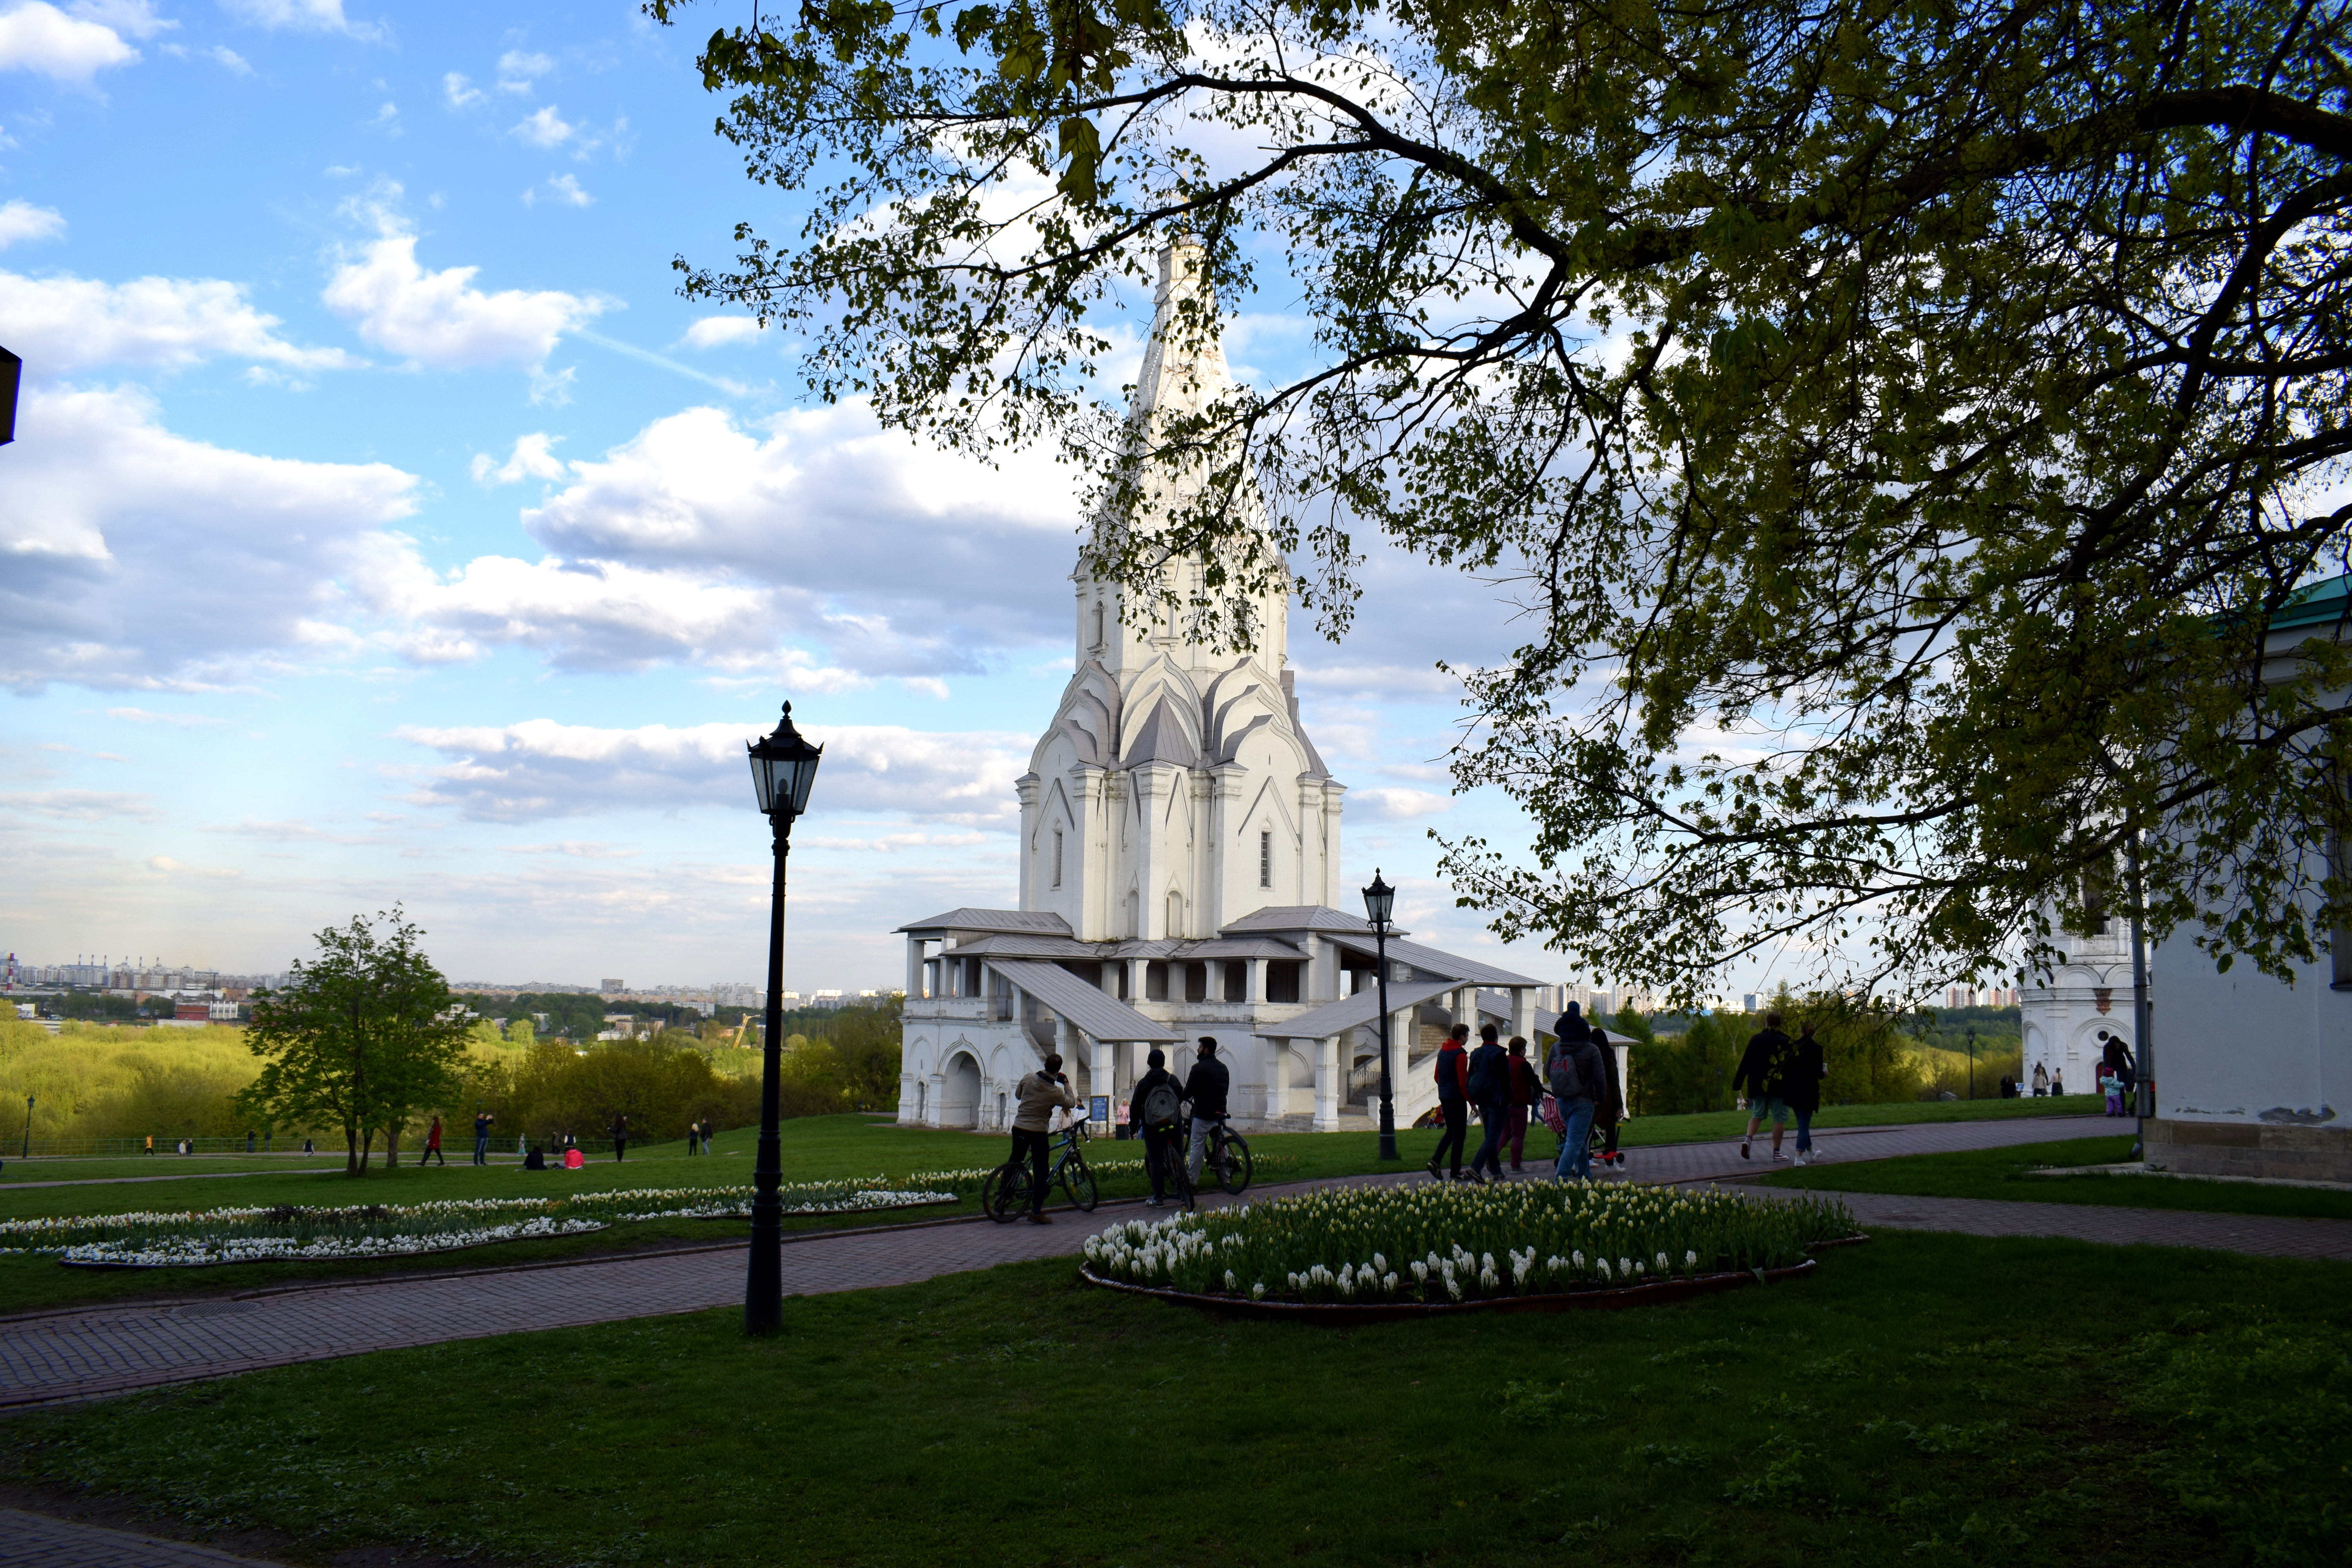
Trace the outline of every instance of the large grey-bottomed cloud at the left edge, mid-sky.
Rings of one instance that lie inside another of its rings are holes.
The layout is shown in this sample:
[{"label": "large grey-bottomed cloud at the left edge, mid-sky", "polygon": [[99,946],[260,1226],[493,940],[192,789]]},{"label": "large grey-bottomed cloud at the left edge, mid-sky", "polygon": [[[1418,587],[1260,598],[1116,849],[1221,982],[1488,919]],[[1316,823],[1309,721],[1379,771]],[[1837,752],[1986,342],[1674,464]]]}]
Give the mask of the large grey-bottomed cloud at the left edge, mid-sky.
[{"label": "large grey-bottomed cloud at the left edge, mid-sky", "polygon": [[193,442],[136,390],[31,388],[0,508],[0,684],[200,689],[332,637],[416,477]]}]

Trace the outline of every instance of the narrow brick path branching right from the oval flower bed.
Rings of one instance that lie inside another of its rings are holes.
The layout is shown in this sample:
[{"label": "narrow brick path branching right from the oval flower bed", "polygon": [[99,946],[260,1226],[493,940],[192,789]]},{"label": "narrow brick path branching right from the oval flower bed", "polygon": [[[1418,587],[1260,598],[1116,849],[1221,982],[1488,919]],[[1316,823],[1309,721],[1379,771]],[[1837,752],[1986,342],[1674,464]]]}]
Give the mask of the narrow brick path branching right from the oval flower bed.
[{"label": "narrow brick path branching right from the oval flower bed", "polygon": [[1863,1229],[1955,1229],[1964,1237],[2063,1237],[2110,1246],[2197,1246],[2256,1258],[2352,1262],[2352,1220],[2253,1213],[2183,1213],[2105,1204],[2009,1204],[1919,1199],[1889,1192],[1835,1192]]}]

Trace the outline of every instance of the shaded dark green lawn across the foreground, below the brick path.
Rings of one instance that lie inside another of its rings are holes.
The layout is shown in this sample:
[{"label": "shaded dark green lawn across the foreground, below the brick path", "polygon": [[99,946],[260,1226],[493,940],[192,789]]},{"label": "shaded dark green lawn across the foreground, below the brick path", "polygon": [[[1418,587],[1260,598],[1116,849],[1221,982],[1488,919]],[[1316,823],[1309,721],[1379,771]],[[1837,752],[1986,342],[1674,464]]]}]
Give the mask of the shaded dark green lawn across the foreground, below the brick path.
[{"label": "shaded dark green lawn across the foreground, below the brick path", "polygon": [[1675,1307],[1329,1331],[1063,1260],[0,1427],[0,1474],[557,1563],[2340,1561],[2352,1269],[1896,1234]]}]

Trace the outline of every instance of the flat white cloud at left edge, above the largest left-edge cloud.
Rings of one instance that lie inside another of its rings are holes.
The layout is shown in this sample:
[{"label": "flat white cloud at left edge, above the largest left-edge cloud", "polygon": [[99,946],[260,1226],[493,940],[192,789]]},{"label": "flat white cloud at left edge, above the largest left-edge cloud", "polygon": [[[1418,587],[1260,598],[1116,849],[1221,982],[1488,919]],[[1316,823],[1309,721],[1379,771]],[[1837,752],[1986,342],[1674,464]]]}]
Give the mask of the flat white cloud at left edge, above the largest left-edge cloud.
[{"label": "flat white cloud at left edge, above the largest left-edge cloud", "polygon": [[24,277],[0,273],[0,322],[26,369],[54,376],[89,364],[174,369],[230,355],[292,369],[355,364],[341,348],[299,348],[275,334],[245,289],[219,277]]}]

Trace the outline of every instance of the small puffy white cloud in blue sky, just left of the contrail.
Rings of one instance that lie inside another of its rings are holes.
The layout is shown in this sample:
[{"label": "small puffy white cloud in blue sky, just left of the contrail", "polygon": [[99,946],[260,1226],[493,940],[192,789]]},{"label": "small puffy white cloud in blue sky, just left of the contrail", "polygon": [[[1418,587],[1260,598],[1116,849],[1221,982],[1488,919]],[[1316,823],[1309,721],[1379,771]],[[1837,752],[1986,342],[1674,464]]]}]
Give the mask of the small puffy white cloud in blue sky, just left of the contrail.
[{"label": "small puffy white cloud in blue sky, just left of the contrail", "polygon": [[376,221],[376,240],[360,247],[327,280],[325,301],[358,322],[360,336],[419,364],[541,364],[555,339],[612,310],[616,301],[560,289],[473,287],[482,268],[454,266],[428,273],[416,261],[416,235],[393,216],[388,186],[365,205]]}]

